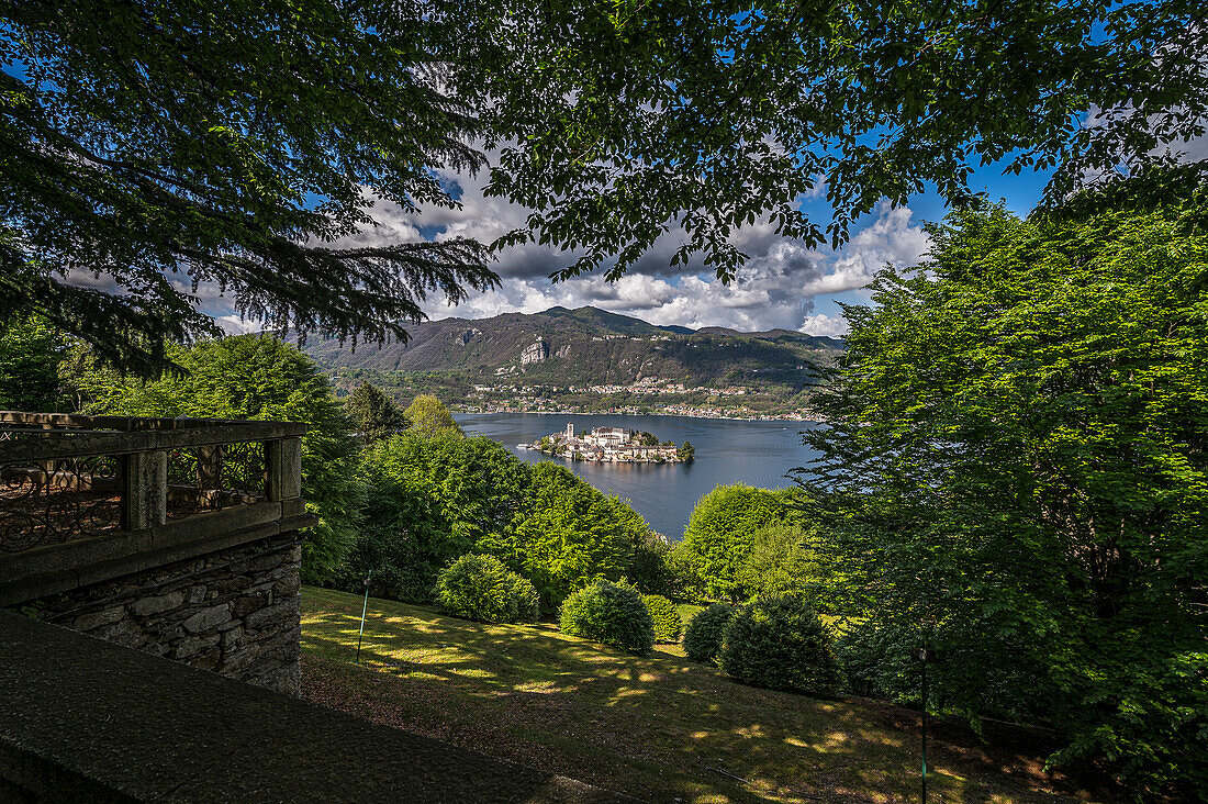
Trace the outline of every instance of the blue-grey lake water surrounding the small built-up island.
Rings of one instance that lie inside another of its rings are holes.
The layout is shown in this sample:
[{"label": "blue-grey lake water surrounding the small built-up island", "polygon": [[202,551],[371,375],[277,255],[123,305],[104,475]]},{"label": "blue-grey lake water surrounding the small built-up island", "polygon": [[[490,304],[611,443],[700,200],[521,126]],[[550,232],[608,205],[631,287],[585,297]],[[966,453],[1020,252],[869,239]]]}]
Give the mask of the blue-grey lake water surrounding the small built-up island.
[{"label": "blue-grey lake water surrounding the small built-up island", "polygon": [[[556,461],[600,491],[628,498],[650,526],[672,540],[684,536],[692,508],[722,484],[743,482],[761,488],[792,485],[789,469],[814,457],[797,435],[821,427],[814,422],[736,422],[685,416],[575,416],[559,413],[463,413],[458,423],[467,434],[486,435],[529,463]],[[691,441],[692,463],[591,463],[567,461],[536,450],[517,450],[542,435],[593,427],[625,427],[654,433],[675,444]]]}]

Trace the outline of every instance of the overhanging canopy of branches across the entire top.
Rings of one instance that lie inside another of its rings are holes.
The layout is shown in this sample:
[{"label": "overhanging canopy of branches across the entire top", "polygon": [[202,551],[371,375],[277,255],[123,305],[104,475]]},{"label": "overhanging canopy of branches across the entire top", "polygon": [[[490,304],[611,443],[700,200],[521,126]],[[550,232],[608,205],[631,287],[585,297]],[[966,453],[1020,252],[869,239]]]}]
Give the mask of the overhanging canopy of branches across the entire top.
[{"label": "overhanging canopy of branches across the entire top", "polygon": [[[492,192],[617,277],[674,231],[728,279],[767,218],[840,241],[970,164],[1087,170],[1202,133],[1198,2],[0,2],[0,317],[126,368],[211,322],[405,336],[431,291],[496,279],[465,239],[341,249],[377,196],[499,149]],[[1093,117],[1093,118],[1092,118]],[[834,218],[798,198],[825,185]],[[210,287],[210,285],[207,285]]]}]

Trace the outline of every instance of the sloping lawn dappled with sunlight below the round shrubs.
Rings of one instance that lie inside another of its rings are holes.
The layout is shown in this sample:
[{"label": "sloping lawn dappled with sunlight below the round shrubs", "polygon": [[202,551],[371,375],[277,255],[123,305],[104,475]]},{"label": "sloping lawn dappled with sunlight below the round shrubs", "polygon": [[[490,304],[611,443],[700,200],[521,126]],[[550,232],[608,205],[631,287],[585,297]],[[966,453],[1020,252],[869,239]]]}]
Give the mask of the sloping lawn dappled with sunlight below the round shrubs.
[{"label": "sloping lawn dappled with sunlight below the round shrubs", "polygon": [[[916,802],[916,713],[737,684],[670,650],[302,591],[303,694],[381,723],[657,802]],[[678,647],[678,646],[675,646]],[[662,648],[662,646],[661,646]],[[1053,800],[1035,735],[929,744],[931,800]],[[1021,750],[1021,747],[1023,750]]]}]

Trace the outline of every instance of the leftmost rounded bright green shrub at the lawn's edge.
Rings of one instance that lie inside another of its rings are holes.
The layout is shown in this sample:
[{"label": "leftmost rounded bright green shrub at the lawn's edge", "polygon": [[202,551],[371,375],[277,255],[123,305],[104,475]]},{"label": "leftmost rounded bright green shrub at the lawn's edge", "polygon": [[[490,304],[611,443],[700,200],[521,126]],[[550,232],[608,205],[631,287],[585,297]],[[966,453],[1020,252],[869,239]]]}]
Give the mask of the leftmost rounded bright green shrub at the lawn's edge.
[{"label": "leftmost rounded bright green shrub at the lawn's edge", "polygon": [[536,590],[499,559],[467,554],[436,579],[436,601],[449,614],[483,623],[536,619]]}]

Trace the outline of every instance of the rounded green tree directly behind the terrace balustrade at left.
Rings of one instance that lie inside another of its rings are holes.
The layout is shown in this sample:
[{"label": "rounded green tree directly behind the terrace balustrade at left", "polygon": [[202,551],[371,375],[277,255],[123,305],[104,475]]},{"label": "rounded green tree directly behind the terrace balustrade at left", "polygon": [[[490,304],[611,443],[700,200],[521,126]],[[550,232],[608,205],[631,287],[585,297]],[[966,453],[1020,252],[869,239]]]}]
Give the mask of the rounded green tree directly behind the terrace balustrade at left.
[{"label": "rounded green tree directly behind the terrace balustrade at left", "polygon": [[74,377],[93,400],[87,412],[308,424],[302,497],[319,525],[308,528],[302,543],[302,577],[307,583],[330,578],[355,538],[362,490],[350,424],[327,380],[292,346],[259,335],[172,347],[168,354],[185,374],[144,381],[92,366]]}]

